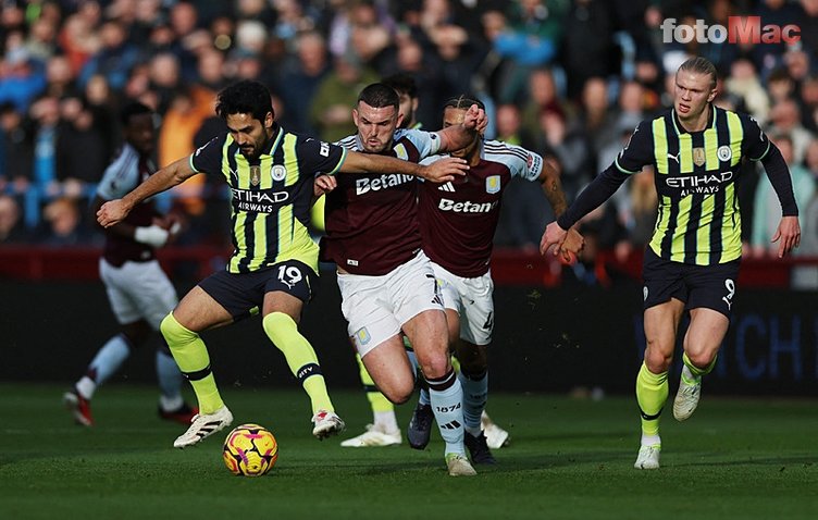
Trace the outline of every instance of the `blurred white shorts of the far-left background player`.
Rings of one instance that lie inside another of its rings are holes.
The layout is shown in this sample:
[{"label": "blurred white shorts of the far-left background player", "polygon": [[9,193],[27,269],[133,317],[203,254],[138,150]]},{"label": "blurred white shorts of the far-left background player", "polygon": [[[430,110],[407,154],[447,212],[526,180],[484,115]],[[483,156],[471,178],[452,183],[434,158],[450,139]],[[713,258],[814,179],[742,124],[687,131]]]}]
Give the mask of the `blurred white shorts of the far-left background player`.
[{"label": "blurred white shorts of the far-left background player", "polygon": [[99,260],[99,276],[106,284],[116,321],[125,325],[145,320],[156,331],[178,304],[176,289],[158,260],[125,262],[120,268]]}]

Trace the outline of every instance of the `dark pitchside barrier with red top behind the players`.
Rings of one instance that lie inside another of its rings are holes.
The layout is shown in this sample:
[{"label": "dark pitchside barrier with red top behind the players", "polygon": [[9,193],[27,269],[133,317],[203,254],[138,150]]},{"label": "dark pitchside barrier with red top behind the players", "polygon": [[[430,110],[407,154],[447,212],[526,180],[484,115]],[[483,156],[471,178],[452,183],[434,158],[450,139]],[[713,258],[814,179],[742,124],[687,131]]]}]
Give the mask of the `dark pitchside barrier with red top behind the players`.
[{"label": "dark pitchside barrier with red top behind the players", "polygon": [[[160,259],[170,272],[181,273],[173,280],[184,294],[220,269],[227,252],[205,246],[170,247]],[[98,281],[99,253],[88,248],[0,247],[0,344],[5,354],[0,380],[73,380],[116,332]],[[789,272],[798,264],[818,262],[744,262],[732,326],[707,380],[708,393],[816,395],[818,306],[815,290],[788,287]],[[617,269],[639,272],[636,264]],[[536,253],[495,253],[492,388],[599,388],[631,394],[644,350],[639,280],[616,276],[607,286],[587,286],[561,277],[560,270],[556,260]],[[339,307],[335,276],[327,265],[318,296],[305,311],[302,330],[315,346],[331,386],[356,388],[360,386],[358,369]],[[220,381],[249,386],[294,384],[283,356],[270,345],[257,319],[209,331],[205,338]],[[680,367],[677,360],[673,385]],[[134,356],[116,377],[152,381],[152,356]]]}]

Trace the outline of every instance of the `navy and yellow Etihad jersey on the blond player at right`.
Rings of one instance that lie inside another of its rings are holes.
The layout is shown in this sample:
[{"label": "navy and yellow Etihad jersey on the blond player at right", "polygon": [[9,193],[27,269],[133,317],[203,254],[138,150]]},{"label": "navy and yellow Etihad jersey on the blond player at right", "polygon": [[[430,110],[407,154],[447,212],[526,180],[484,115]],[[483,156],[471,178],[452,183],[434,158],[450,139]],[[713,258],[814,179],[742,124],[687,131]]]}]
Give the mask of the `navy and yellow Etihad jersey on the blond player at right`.
[{"label": "navy and yellow Etihad jersey on the blond player at right", "polygon": [[710,107],[702,132],[686,132],[673,109],[643,121],[614,163],[627,174],[655,168],[659,214],[649,246],[666,260],[711,265],[741,257],[736,176],[742,159],[764,159],[770,141],[753,117]]}]

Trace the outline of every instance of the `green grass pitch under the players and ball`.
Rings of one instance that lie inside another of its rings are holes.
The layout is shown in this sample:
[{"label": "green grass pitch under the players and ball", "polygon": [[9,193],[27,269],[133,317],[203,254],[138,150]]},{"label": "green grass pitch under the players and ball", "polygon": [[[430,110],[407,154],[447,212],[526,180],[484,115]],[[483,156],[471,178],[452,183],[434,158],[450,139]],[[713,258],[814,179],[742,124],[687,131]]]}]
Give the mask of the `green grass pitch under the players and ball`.
[{"label": "green grass pitch under the players and ball", "polygon": [[[258,422],[280,445],[275,468],[249,479],[222,462],[227,430],[172,448],[184,426],[158,419],[153,387],[101,388],[92,429],[72,424],[64,389],[0,384],[2,519],[818,518],[815,399],[727,399],[705,387],[685,423],[666,410],[662,468],[639,471],[634,398],[493,394],[489,412],[512,444],[495,451],[496,467],[454,479],[436,431],[424,451],[406,439],[342,448],[371,421],[360,392],[334,392],[348,430],[319,442],[302,393],[231,388],[234,425]],[[410,413],[398,408],[401,428]]]}]

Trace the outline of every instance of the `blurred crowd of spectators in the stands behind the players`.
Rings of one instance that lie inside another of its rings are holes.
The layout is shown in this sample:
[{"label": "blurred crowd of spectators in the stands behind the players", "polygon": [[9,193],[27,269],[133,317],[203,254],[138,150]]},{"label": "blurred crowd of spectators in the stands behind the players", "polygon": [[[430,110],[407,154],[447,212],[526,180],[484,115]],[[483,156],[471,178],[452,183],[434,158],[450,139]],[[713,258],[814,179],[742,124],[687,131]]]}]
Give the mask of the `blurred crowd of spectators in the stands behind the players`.
[{"label": "blurred crowd of spectators in the stands behind the players", "polygon": [[[426,129],[441,127],[444,100],[472,92],[489,137],[558,162],[570,201],[670,106],[673,73],[698,54],[721,75],[716,103],[752,114],[781,149],[797,253],[818,255],[818,0],[12,0],[0,11],[0,244],[99,244],[87,207],[121,144],[117,108],[157,111],[162,166],[223,132],[215,94],[243,78],[271,89],[286,129],[331,141],[355,133],[351,107],[381,77],[414,78]],[[731,16],[793,24],[800,39],[662,40],[666,20]],[[223,242],[226,195],[198,177],[162,203],[185,218],[183,244]],[[755,165],[741,177],[746,253],[763,257],[780,208]],[[649,239],[653,172],[629,184],[582,223],[588,253],[625,257]],[[542,191],[516,182],[506,199],[496,244],[535,249],[553,220]]]}]

